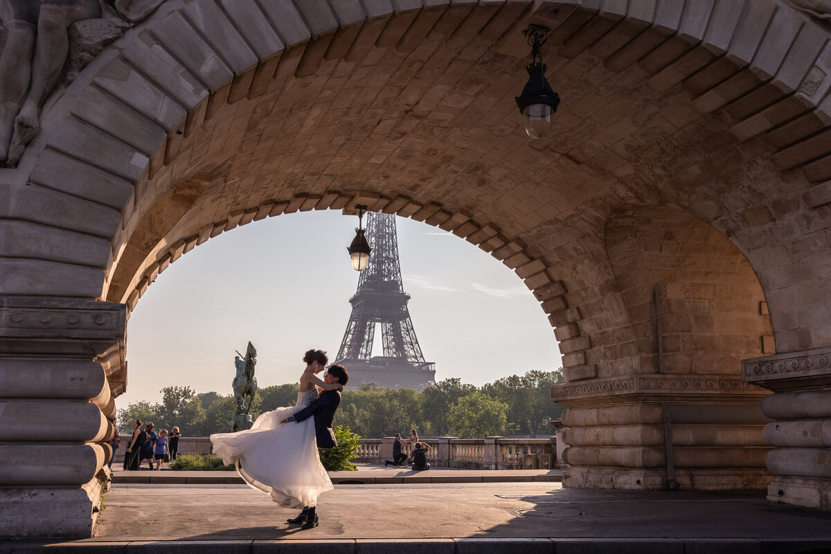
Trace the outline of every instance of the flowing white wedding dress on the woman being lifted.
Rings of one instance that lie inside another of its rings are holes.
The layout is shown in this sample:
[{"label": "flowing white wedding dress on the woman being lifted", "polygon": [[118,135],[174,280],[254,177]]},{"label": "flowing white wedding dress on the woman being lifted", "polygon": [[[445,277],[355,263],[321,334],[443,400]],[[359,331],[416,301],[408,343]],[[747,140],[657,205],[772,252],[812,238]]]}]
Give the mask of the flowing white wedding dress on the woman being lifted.
[{"label": "flowing white wedding dress on the woman being lifted", "polygon": [[332,481],[320,463],[314,417],[281,425],[317,398],[317,390],[297,393],[297,404],[260,415],[251,429],[210,436],[214,454],[237,471],[253,488],[271,495],[283,506],[314,506],[317,496],[332,490]]}]

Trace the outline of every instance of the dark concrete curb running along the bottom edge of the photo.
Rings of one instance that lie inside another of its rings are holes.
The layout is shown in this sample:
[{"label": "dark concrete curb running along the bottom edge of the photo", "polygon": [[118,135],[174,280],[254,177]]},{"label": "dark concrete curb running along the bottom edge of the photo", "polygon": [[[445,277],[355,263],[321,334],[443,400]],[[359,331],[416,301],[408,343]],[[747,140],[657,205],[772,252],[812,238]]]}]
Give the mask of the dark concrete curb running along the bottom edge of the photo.
[{"label": "dark concrete curb running along the bottom edge of the photo", "polygon": [[0,554],[799,554],[831,552],[827,538],[423,538],[282,541],[2,541]]}]

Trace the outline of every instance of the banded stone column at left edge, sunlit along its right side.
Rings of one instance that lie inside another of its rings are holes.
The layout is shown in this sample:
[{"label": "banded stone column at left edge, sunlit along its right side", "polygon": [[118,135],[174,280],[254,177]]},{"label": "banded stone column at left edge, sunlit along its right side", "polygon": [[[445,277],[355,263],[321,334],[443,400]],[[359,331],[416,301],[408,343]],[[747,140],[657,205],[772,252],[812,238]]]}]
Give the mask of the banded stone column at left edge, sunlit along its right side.
[{"label": "banded stone column at left edge, sunlit along its right side", "polygon": [[0,537],[91,537],[126,306],[0,298]]}]

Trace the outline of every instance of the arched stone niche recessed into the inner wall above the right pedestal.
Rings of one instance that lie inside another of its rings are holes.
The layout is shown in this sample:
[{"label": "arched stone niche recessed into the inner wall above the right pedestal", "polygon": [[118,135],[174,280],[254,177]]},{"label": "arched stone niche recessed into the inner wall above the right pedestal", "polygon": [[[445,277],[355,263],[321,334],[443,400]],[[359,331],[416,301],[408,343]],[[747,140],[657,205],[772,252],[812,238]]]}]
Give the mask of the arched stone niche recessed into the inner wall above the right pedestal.
[{"label": "arched stone niche recessed into the inner wall above the right pedestal", "polygon": [[609,218],[606,243],[642,374],[739,375],[741,360],[775,353],[759,281],[714,228],[678,208],[629,208]]}]

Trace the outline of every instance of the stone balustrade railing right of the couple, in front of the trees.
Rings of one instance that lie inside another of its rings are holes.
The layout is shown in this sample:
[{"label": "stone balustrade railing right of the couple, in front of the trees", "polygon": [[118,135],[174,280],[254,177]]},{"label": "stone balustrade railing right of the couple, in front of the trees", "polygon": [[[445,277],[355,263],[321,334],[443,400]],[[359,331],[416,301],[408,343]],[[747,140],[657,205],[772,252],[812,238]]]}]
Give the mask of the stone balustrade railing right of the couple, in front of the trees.
[{"label": "stone balustrade railing right of the couple, in front of the trees", "polygon": [[[358,439],[357,461],[383,463],[392,459],[392,444],[395,439]],[[466,469],[538,469],[558,467],[556,458],[556,437],[539,439],[507,439],[488,437],[486,439],[422,439],[430,445],[427,459],[439,468]],[[402,451],[408,456],[411,444],[403,444]]]}]

